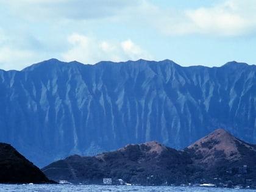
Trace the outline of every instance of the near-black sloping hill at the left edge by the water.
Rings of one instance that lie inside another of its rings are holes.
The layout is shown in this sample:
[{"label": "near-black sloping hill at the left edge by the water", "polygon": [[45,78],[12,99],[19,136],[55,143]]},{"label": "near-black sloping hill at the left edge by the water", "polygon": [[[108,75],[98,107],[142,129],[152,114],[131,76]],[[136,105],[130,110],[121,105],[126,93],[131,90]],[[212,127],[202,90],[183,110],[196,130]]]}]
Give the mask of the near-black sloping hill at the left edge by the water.
[{"label": "near-black sloping hill at the left edge by the water", "polygon": [[0,183],[53,183],[10,144],[0,143]]}]

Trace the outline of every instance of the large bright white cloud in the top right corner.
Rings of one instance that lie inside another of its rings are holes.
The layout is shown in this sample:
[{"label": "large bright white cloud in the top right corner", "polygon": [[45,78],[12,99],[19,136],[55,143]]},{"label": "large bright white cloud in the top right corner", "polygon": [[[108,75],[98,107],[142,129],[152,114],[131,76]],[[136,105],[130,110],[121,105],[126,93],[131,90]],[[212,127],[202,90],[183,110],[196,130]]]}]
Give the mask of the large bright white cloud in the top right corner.
[{"label": "large bright white cloud in the top right corner", "polygon": [[[152,6],[152,5],[151,5]],[[155,10],[148,22],[165,35],[204,34],[223,37],[256,31],[254,0],[226,0],[211,7],[187,10]],[[157,16],[158,15],[158,16]]]}]

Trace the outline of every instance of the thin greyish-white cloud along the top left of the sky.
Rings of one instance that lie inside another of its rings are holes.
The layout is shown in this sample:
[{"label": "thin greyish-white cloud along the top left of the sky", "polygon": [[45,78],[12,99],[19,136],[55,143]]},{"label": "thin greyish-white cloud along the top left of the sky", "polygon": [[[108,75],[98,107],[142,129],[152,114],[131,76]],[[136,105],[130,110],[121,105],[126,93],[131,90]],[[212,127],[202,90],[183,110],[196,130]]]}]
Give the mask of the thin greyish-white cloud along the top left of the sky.
[{"label": "thin greyish-white cloud along the top left of the sky", "polygon": [[54,20],[55,18],[70,20],[88,20],[92,18],[107,18],[116,15],[129,6],[136,6],[138,0],[2,0],[9,4],[17,15],[32,20]]}]

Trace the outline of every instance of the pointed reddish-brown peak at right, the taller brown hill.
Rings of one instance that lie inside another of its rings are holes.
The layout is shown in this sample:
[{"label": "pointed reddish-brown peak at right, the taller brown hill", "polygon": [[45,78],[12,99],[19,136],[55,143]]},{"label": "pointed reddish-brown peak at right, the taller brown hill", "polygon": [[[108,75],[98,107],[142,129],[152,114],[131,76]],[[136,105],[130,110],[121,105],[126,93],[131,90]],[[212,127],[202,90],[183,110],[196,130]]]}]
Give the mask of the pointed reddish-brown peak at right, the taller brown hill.
[{"label": "pointed reddish-brown peak at right, the taller brown hill", "polygon": [[[224,129],[217,129],[188,146],[194,151],[194,162],[207,167],[228,161],[251,163],[248,154],[255,154],[256,146],[233,137]],[[253,155],[254,156],[254,155]],[[252,157],[254,158],[254,157]]]}]

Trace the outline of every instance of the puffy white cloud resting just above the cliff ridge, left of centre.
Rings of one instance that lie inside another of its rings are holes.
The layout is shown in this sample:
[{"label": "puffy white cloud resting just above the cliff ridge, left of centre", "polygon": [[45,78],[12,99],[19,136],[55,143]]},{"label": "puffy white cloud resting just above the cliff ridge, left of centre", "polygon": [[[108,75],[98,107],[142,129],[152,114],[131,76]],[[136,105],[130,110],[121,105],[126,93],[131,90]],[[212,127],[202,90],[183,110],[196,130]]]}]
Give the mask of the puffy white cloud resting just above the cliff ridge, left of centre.
[{"label": "puffy white cloud resting just above the cliff ridge, left of centre", "polygon": [[152,59],[148,52],[143,51],[132,40],[106,41],[94,37],[73,34],[68,37],[71,48],[62,54],[66,61],[77,60],[82,63],[94,64],[101,60],[119,62],[123,60]]}]

